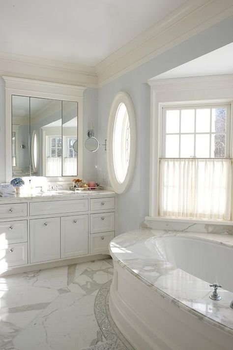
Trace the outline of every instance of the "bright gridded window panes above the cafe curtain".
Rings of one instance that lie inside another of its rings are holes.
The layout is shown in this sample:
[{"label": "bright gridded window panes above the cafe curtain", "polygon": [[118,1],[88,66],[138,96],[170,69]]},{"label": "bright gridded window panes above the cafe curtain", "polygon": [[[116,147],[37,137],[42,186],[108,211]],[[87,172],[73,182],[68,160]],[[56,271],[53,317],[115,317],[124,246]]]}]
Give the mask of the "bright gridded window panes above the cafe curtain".
[{"label": "bright gridded window panes above the cafe curtain", "polygon": [[163,158],[225,158],[230,105],[163,108]]}]

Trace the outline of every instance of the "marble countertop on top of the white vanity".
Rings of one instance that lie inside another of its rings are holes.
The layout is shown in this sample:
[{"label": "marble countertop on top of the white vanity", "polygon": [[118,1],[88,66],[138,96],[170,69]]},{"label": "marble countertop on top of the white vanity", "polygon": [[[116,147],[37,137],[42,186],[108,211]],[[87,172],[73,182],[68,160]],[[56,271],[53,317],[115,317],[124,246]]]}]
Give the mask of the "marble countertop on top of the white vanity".
[{"label": "marble countertop on top of the white vanity", "polygon": [[48,200],[65,200],[65,199],[77,199],[77,198],[88,198],[88,197],[101,197],[101,196],[114,196],[116,193],[109,190],[90,190],[74,192],[71,190],[62,191],[46,191],[38,193],[24,193],[15,194],[12,197],[0,197],[0,204],[13,203],[13,202],[25,202],[25,201],[48,201]]}]

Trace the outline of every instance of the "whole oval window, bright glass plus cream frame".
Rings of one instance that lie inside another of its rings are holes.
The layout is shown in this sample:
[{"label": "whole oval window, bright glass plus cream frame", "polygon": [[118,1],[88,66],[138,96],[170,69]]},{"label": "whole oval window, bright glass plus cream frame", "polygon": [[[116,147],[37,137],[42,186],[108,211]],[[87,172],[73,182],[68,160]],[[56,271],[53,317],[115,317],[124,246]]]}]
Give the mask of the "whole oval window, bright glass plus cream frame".
[{"label": "whole oval window, bright glass plus cream frame", "polygon": [[107,153],[110,182],[117,193],[122,193],[130,184],[136,156],[134,107],[124,92],[117,94],[111,107]]}]

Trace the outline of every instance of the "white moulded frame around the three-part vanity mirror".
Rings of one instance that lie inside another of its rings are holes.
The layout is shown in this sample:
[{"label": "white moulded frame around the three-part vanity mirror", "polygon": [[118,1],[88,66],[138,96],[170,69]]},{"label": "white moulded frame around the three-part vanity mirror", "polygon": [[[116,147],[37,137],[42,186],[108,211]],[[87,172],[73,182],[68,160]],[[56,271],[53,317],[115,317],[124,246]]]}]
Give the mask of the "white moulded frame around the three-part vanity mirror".
[{"label": "white moulded frame around the three-part vanity mirror", "polygon": [[[6,181],[12,179],[12,95],[63,100],[78,103],[78,175],[83,177],[83,95],[85,86],[67,85],[3,75],[5,81]],[[48,177],[50,181],[70,181],[73,176]]]}]

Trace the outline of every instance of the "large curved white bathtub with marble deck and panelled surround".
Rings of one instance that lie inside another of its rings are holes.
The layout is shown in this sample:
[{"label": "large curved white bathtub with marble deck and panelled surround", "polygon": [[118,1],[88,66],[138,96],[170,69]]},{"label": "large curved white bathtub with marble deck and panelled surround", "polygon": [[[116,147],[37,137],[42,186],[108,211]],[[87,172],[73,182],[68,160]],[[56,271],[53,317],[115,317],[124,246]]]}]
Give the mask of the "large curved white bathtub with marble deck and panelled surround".
[{"label": "large curved white bathtub with marble deck and panelled surround", "polygon": [[233,236],[137,230],[110,250],[110,312],[136,350],[233,350]]}]

